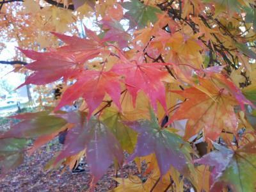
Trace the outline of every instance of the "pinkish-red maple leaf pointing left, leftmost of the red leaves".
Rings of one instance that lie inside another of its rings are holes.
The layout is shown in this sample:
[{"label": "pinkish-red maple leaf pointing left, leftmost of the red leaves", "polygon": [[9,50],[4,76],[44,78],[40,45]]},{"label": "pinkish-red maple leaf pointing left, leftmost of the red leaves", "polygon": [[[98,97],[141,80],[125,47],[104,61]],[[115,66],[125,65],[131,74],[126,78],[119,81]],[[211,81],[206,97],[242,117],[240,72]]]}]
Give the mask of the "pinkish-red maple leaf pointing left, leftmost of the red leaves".
[{"label": "pinkish-red maple leaf pointing left, leftmost of the red leaves", "polygon": [[95,58],[102,52],[108,52],[104,48],[104,41],[101,41],[93,31],[86,28],[85,30],[90,39],[52,32],[68,45],[64,45],[57,50],[49,49],[51,52],[36,52],[18,48],[28,58],[35,60],[26,65],[26,68],[34,72],[20,86],[25,84],[47,84],[57,81],[61,77],[64,77],[66,81],[68,78],[77,76],[81,69],[83,70],[84,62]]}]

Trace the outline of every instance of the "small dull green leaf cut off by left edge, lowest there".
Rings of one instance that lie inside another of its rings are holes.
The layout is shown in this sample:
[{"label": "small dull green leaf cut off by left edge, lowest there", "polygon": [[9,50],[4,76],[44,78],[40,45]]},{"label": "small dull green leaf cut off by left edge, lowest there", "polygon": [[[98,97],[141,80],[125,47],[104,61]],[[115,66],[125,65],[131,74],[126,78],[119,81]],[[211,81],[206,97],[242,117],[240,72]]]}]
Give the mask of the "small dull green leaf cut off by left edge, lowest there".
[{"label": "small dull green leaf cut off by left edge, lowest there", "polygon": [[23,150],[26,147],[25,139],[5,138],[0,139],[0,168],[1,176],[10,169],[23,163]]}]

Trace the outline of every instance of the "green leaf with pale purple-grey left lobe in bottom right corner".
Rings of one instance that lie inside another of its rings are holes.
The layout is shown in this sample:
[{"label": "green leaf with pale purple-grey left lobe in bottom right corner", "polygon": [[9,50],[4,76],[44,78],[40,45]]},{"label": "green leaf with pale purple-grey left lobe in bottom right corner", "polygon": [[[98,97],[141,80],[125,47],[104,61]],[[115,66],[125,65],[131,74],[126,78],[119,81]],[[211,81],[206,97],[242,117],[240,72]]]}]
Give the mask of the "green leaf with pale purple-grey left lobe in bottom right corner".
[{"label": "green leaf with pale purple-grey left lobe in bottom right corner", "polygon": [[211,172],[211,191],[221,191],[225,186],[234,191],[255,190],[256,154],[251,143],[248,145],[249,148],[245,145],[232,151],[214,143],[217,150],[195,160],[195,163],[214,166]]}]

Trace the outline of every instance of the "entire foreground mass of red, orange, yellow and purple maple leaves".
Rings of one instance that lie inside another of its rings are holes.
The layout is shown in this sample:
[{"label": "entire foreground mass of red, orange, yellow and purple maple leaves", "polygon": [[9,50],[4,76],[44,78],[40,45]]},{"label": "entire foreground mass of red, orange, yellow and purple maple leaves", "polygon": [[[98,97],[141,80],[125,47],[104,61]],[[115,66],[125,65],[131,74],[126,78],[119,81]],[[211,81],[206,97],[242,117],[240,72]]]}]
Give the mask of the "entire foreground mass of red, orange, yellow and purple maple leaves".
[{"label": "entire foreground mass of red, orange, yellow and purple maple leaves", "polygon": [[55,108],[12,116],[21,122],[1,135],[1,172],[22,163],[26,139],[32,153],[68,129],[52,167],[86,156],[92,188],[134,160],[147,180],[116,178],[114,191],[182,191],[184,178],[196,191],[255,191],[255,2],[109,2],[84,1],[100,33],[84,26],[86,38],[52,32],[57,49],[19,48],[33,60],[20,86],[67,87]]}]

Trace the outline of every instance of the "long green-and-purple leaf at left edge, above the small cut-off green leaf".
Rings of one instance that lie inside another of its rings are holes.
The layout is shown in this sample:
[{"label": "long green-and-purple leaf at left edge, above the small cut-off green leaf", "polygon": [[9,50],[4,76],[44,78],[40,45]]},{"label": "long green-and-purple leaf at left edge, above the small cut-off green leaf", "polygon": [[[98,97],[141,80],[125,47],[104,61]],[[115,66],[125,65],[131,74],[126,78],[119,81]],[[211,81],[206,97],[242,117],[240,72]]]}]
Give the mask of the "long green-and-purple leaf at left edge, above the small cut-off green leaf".
[{"label": "long green-and-purple leaf at left edge, above the small cut-off green leaf", "polygon": [[0,138],[37,138],[58,131],[67,124],[63,118],[49,113],[50,111],[40,111],[11,116],[22,121],[12,125],[9,131],[0,135]]}]

